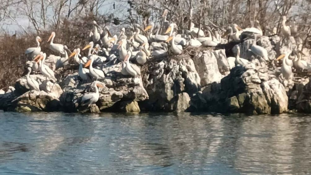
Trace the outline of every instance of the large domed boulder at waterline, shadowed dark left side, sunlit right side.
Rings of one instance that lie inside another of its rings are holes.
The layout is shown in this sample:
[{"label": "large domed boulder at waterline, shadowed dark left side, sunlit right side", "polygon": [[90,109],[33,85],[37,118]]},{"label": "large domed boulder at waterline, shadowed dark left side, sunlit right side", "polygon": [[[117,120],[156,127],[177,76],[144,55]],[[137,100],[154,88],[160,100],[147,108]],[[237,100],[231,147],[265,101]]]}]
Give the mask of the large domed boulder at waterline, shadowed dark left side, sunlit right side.
[{"label": "large domed boulder at waterline, shadowed dark left side, sunlit right side", "polygon": [[245,67],[231,69],[220,85],[203,90],[209,111],[252,114],[283,113],[288,98],[285,87],[275,78],[267,79],[267,66],[255,59]]}]

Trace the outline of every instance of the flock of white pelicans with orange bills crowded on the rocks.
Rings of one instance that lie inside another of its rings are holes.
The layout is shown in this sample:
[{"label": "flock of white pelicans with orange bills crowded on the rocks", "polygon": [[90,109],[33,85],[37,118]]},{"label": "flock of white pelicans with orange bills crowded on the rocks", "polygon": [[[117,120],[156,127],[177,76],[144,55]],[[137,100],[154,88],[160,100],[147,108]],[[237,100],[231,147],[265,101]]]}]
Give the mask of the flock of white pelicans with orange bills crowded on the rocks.
[{"label": "flock of white pelicans with orange bills crowded on the rocks", "polygon": [[[100,81],[104,81],[106,72],[103,67],[118,64],[119,72],[123,76],[142,78],[140,68],[153,60],[167,58],[171,55],[182,55],[188,49],[201,49],[210,47],[218,49],[221,45],[233,43],[228,50],[235,49],[234,57],[228,57],[225,62],[228,62],[229,70],[235,66],[246,66],[251,60],[240,58],[243,52],[250,51],[258,58],[269,61],[267,49],[256,44],[257,39],[263,36],[263,31],[258,20],[253,21],[253,26],[242,29],[238,24],[228,26],[228,30],[219,30],[210,27],[198,28],[194,23],[191,23],[187,30],[179,29],[174,22],[169,23],[166,16],[163,17],[163,23],[150,22],[145,29],[134,24],[127,28],[118,30],[114,36],[111,35],[109,27],[101,27],[96,21],[92,21],[92,30],[90,38],[86,41],[84,48],[74,48],[73,52],[63,44],[55,44],[54,38],[56,33],[52,32],[49,39],[49,48],[53,53],[61,54],[56,62],[56,70],[65,66],[75,66],[74,71],[77,72],[82,84],[91,83],[95,88],[95,92],[84,94],[81,99],[81,105],[91,105],[97,102],[100,97],[98,87],[101,87]],[[288,38],[292,34],[297,34],[297,25],[295,21],[291,26],[286,24],[286,16],[282,17],[281,34]],[[182,32],[181,32],[182,31]],[[228,37],[226,37],[228,35]],[[247,50],[241,47],[243,42],[248,39],[253,39],[253,44],[248,46]],[[45,63],[48,59],[46,53],[41,51],[39,36],[35,39],[37,46],[28,48],[25,54],[32,59],[32,66],[28,67],[27,84],[30,90],[39,91],[39,84],[30,77],[31,71],[40,72],[46,81],[60,81],[55,77],[54,71]],[[242,50],[243,49],[243,50]],[[87,51],[86,51],[87,50]],[[291,53],[294,53],[295,59],[290,60]],[[68,53],[70,54],[68,56]],[[289,49],[282,53],[278,58],[270,60],[267,64],[273,64],[275,60],[283,59],[281,65],[281,73],[285,80],[289,80],[292,76],[292,67],[296,70],[304,71],[311,70],[311,64],[302,60],[301,51]],[[72,59],[73,57],[73,59]],[[245,56],[243,56],[245,57]],[[259,58],[260,57],[260,58]],[[271,59],[271,58],[270,58]],[[73,61],[71,61],[73,60]],[[225,62],[220,61],[219,67],[225,65]]]}]

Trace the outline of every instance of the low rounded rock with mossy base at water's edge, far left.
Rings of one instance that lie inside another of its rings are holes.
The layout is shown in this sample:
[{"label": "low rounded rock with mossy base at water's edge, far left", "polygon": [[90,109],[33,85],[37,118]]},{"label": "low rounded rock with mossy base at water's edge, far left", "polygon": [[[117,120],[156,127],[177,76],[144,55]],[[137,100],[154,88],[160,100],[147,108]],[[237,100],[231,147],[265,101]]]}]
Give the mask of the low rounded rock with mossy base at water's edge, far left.
[{"label": "low rounded rock with mossy base at water's edge, far left", "polygon": [[28,91],[7,107],[8,111],[60,111],[59,99],[44,91]]}]

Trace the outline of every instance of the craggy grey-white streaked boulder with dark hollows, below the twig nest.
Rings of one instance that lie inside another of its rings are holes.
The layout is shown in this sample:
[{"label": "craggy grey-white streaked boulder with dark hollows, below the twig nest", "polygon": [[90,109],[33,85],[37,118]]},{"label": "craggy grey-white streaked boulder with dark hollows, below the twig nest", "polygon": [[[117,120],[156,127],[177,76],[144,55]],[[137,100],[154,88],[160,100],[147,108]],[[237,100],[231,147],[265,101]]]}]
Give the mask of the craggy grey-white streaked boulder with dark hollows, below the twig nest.
[{"label": "craggy grey-white streaked boulder with dark hollows, below the twig nest", "polygon": [[[178,94],[185,92],[192,96],[200,91],[200,76],[194,62],[187,56],[177,56],[175,59],[163,60],[150,67],[149,74],[143,75],[150,98],[140,103],[141,107],[148,110],[174,111]],[[214,63],[217,67],[215,56]],[[217,71],[219,73],[218,68]]]}]

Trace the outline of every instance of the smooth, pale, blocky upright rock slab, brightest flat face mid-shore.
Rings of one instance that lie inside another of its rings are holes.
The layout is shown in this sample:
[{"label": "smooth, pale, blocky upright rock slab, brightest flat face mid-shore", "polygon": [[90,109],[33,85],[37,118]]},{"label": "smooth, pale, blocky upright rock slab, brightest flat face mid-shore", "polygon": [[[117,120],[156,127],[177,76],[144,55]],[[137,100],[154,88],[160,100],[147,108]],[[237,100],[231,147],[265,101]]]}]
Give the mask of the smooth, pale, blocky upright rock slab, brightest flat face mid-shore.
[{"label": "smooth, pale, blocky upright rock slab, brightest flat face mid-shore", "polygon": [[203,51],[197,53],[193,57],[197,73],[201,78],[201,86],[206,86],[213,82],[220,82],[222,76],[218,69],[217,58],[215,57],[215,55],[219,55],[219,52],[223,51]]}]

